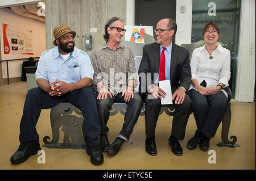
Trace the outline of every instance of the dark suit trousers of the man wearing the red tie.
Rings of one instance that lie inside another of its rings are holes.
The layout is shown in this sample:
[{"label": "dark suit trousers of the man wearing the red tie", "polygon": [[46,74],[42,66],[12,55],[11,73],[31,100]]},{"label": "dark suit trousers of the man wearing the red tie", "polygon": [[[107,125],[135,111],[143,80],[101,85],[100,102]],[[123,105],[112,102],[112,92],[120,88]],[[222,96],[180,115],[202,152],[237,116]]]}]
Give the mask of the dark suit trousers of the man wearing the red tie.
[{"label": "dark suit trousers of the man wearing the red tie", "polygon": [[[172,87],[172,94],[176,90],[176,87]],[[156,123],[158,121],[159,112],[162,104],[160,99],[148,99],[148,93],[144,93],[143,98],[146,102],[145,122],[146,122],[146,138],[155,136]],[[150,94],[151,95],[151,94]],[[175,108],[174,118],[172,119],[172,131],[171,134],[178,140],[183,140],[185,137],[185,129],[189,115],[192,113],[191,99],[188,94],[185,95],[184,102],[182,104],[173,104]]]}]

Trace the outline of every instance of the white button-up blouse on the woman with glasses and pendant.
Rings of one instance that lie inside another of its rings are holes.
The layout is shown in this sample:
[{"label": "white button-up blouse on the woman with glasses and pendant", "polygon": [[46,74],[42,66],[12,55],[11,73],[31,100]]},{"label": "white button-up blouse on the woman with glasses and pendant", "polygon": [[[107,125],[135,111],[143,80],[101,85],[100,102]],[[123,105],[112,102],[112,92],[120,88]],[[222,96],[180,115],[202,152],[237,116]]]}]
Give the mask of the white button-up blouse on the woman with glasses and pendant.
[{"label": "white button-up blouse on the woman with glasses and pendant", "polygon": [[[205,45],[193,51],[190,64],[192,79],[197,79],[199,84],[205,80],[207,87],[217,86],[218,83],[223,83],[224,87],[228,87],[231,74],[230,51],[218,44],[218,47],[212,53],[213,58],[210,59],[209,56]],[[190,89],[195,89],[193,84],[189,87]],[[228,96],[226,91],[221,91]]]}]

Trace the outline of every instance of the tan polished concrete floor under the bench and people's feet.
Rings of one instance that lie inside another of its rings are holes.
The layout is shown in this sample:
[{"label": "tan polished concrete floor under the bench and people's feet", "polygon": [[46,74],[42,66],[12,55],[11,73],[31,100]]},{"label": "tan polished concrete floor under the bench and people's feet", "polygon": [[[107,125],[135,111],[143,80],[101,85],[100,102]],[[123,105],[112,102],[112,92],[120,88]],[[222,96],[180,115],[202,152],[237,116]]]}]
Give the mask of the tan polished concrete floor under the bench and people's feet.
[{"label": "tan polished concrete floor under the bench and people's feet", "polygon": [[[208,152],[186,148],[187,141],[196,130],[193,115],[189,117],[185,139],[181,141],[183,155],[176,156],[168,145],[172,117],[165,113],[159,116],[156,127],[156,145],[158,155],[148,155],[144,149],[144,116],[140,116],[129,141],[114,157],[104,153],[104,163],[94,166],[85,150],[42,149],[46,152],[46,163],[37,162],[39,155],[31,156],[19,165],[10,163],[11,155],[19,146],[19,122],[22,116],[24,99],[26,98],[26,82],[0,86],[0,169],[255,169],[255,102],[232,102],[232,124],[229,136],[238,138],[237,148],[219,148],[221,141],[221,125],[216,136],[210,141],[210,150],[216,151],[216,163],[209,164]],[[40,144],[43,137],[52,137],[50,110],[43,110],[36,127]],[[109,120],[109,140],[114,141],[123,124],[123,116],[111,116]]]}]

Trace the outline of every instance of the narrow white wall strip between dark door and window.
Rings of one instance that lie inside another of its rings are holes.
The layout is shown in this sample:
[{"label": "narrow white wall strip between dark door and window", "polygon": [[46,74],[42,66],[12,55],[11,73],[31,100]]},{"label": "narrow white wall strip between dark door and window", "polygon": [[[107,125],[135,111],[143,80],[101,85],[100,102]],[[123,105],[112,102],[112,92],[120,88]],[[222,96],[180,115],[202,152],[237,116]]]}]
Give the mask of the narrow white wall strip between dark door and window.
[{"label": "narrow white wall strip between dark door and window", "polygon": [[[180,7],[185,7],[185,12],[180,12]],[[175,43],[177,45],[191,43],[192,30],[192,0],[176,1],[177,33]]]}]

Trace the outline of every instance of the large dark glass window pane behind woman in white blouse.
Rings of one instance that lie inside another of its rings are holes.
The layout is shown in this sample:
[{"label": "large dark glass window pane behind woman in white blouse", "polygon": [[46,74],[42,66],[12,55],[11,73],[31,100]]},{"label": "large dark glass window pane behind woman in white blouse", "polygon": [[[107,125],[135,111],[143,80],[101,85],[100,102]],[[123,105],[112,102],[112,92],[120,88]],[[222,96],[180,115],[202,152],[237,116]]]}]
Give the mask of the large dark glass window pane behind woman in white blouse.
[{"label": "large dark glass window pane behind woman in white blouse", "polygon": [[231,78],[229,87],[232,98],[235,95],[238,37],[240,27],[240,0],[193,0],[192,8],[192,36],[191,43],[204,40],[203,27],[213,21],[218,23],[221,36],[220,41],[231,53]]}]

